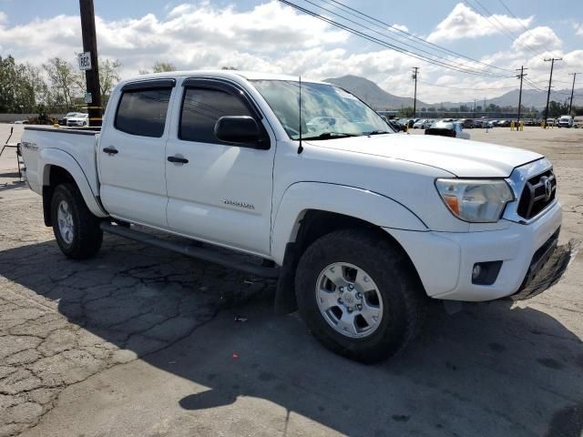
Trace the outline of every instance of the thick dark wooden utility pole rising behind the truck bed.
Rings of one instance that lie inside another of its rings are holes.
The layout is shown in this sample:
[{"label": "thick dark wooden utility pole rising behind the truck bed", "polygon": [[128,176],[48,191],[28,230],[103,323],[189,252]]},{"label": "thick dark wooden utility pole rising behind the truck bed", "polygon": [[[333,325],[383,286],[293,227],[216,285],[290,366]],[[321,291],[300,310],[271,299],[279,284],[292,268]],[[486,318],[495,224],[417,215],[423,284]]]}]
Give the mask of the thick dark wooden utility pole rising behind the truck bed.
[{"label": "thick dark wooden utility pole rising behind the truck bed", "polygon": [[81,33],[83,35],[83,51],[91,54],[91,68],[85,72],[87,93],[91,101],[87,101],[90,126],[101,126],[101,89],[99,88],[99,69],[97,66],[97,36],[95,31],[95,11],[93,0],[79,0],[81,12]]}]

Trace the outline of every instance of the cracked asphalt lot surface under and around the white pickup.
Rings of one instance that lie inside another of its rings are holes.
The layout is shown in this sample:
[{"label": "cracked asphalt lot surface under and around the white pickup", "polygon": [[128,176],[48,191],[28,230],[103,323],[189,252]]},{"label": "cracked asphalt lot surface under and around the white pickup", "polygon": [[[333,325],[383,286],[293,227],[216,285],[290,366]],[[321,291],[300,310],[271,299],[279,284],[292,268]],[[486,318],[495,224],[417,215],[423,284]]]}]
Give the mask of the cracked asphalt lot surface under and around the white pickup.
[{"label": "cracked asphalt lot surface under and around the white pickup", "polygon": [[[561,242],[583,239],[583,130],[471,134],[550,158]],[[41,209],[6,151],[0,436],[582,435],[580,253],[532,300],[436,303],[409,350],[363,366],[274,316],[270,281],[113,236],[70,261]]]}]

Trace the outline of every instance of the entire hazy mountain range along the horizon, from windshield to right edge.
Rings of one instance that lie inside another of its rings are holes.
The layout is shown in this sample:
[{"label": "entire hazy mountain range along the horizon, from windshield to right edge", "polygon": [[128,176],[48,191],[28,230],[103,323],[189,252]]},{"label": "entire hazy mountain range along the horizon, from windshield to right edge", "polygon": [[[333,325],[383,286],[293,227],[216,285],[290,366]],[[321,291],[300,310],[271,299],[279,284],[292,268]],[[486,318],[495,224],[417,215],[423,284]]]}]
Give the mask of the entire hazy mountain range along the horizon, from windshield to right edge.
[{"label": "entire hazy mountain range along the horizon, from windshield to right edge", "polygon": [[[398,97],[387,93],[380,86],[374,82],[360,76],[342,76],[324,79],[324,82],[329,82],[336,86],[341,86],[344,89],[353,93],[353,95],[361,98],[375,109],[399,109],[401,107],[413,107],[413,98]],[[563,103],[570,97],[570,89],[553,89],[550,93],[550,99]],[[517,107],[518,105],[518,89],[512,90],[499,97],[486,99],[486,107],[490,104],[499,107]],[[422,107],[441,107],[441,103],[424,103],[417,99],[417,108]],[[474,107],[474,102],[444,102],[444,107],[460,107],[465,105],[467,107]],[[484,100],[478,99],[476,105],[483,106]],[[536,89],[522,90],[522,105],[524,107],[543,108],[547,105],[547,91],[538,91]],[[575,90],[573,97],[573,105],[577,107],[583,106],[583,89]]]}]

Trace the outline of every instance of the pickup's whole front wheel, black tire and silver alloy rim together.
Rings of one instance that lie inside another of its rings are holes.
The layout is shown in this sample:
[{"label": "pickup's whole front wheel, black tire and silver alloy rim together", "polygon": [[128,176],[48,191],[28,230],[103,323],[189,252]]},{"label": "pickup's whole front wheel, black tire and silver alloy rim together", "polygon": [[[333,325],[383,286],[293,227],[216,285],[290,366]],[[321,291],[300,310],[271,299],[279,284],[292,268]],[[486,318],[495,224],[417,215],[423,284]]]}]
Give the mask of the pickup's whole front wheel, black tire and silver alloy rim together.
[{"label": "pickup's whole front wheel, black tire and silver alloy rim together", "polygon": [[414,338],[424,290],[401,249],[366,229],[316,240],[296,272],[296,297],[316,339],[347,358],[371,363]]}]

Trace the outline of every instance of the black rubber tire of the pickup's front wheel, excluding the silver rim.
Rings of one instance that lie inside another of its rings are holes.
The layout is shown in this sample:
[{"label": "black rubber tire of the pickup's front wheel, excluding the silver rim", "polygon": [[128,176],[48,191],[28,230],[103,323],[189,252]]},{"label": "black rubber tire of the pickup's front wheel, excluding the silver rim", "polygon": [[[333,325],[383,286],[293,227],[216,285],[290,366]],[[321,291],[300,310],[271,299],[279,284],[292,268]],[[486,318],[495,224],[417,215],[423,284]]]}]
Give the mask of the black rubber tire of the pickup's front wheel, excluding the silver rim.
[{"label": "black rubber tire of the pickup's front wheel, excluding the silver rim", "polygon": [[[384,302],[378,328],[364,338],[350,338],[334,330],[318,308],[318,278],[335,262],[366,271]],[[410,261],[402,249],[373,230],[343,229],[317,239],[300,259],[295,284],[302,319],[314,337],[354,361],[383,361],[403,350],[424,320],[426,295]]]}]

